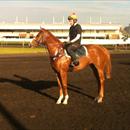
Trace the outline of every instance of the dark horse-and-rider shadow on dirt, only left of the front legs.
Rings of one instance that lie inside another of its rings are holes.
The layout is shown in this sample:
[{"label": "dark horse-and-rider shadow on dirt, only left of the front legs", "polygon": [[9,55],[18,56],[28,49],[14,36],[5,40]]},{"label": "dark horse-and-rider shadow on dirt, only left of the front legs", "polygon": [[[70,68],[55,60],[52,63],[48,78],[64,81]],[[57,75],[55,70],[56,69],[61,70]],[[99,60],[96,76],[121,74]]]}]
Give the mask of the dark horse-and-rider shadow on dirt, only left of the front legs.
[{"label": "dark horse-and-rider shadow on dirt, only left of the front legs", "polygon": [[48,81],[43,81],[43,80],[33,81],[19,75],[14,75],[14,77],[18,78],[19,80],[0,78],[0,82],[9,82],[9,83],[17,85],[18,87],[22,87],[24,89],[31,90],[38,94],[46,96],[50,99],[53,99],[54,101],[57,100],[55,97],[43,91],[52,87],[56,87],[57,86],[56,81],[49,81],[49,80]]}]

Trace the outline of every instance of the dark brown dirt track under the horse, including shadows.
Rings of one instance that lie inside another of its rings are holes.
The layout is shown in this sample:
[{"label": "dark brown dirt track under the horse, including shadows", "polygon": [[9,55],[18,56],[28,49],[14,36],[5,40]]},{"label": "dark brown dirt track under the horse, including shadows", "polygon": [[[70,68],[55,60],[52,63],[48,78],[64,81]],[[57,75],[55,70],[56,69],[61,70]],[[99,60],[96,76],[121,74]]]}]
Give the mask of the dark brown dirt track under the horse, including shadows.
[{"label": "dark brown dirt track under the horse, including shadows", "polygon": [[69,104],[56,105],[57,82],[48,57],[0,57],[0,130],[130,130],[130,54],[112,55],[112,79],[97,104],[88,67],[69,73]]}]

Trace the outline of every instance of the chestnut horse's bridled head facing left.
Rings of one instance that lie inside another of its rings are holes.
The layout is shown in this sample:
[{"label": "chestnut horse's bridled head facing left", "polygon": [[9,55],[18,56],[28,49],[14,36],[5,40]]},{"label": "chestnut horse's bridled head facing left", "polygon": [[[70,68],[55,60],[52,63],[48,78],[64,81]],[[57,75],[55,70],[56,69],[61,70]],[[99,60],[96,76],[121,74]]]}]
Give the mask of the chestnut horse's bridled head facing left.
[{"label": "chestnut horse's bridled head facing left", "polygon": [[33,40],[30,43],[30,47],[36,47],[38,45],[41,44],[45,44],[46,42],[46,33],[45,33],[45,29],[41,28],[41,30],[38,32],[38,34],[36,35],[35,38],[33,38]]}]

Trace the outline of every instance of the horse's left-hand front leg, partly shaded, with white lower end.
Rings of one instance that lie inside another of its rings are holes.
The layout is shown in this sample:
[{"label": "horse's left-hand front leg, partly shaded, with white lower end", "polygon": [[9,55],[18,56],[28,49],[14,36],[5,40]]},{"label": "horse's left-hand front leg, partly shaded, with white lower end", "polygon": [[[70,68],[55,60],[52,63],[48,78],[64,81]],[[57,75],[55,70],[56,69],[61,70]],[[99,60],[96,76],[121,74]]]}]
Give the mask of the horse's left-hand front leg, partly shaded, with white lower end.
[{"label": "horse's left-hand front leg, partly shaded, with white lower end", "polygon": [[57,78],[58,87],[59,87],[59,98],[58,98],[56,104],[61,104],[61,101],[62,101],[64,95],[63,95],[63,90],[62,90],[62,83],[61,83],[60,74],[57,73],[56,78]]}]

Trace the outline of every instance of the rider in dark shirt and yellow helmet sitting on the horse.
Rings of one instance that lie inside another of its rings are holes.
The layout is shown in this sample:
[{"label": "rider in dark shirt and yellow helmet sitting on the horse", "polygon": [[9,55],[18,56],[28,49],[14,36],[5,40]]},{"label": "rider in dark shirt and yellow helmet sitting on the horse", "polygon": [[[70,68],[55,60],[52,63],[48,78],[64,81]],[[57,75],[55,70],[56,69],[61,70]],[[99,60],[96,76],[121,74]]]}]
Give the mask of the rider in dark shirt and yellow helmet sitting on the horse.
[{"label": "rider in dark shirt and yellow helmet sitting on the horse", "polygon": [[75,51],[80,47],[82,28],[80,24],[77,23],[77,16],[75,13],[68,16],[68,22],[70,24],[69,36],[67,41],[64,43],[67,53],[72,58],[72,63],[70,66],[74,67],[79,65],[79,61],[76,59]]}]

